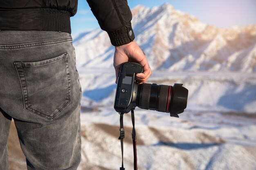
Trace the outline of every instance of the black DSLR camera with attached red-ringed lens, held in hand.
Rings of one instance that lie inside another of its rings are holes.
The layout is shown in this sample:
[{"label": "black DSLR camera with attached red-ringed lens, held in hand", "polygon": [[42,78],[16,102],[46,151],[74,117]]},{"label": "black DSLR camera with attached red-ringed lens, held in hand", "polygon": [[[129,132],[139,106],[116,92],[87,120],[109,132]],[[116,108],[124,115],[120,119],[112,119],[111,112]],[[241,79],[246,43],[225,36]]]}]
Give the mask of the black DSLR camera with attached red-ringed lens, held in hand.
[{"label": "black DSLR camera with attached red-ringed lens, held in hand", "polygon": [[121,66],[117,81],[114,108],[119,113],[129,113],[136,106],[142,109],[170,113],[179,117],[187,104],[188,90],[182,84],[174,86],[143,83],[135,79],[137,73],[143,73],[140,64],[126,62]]}]

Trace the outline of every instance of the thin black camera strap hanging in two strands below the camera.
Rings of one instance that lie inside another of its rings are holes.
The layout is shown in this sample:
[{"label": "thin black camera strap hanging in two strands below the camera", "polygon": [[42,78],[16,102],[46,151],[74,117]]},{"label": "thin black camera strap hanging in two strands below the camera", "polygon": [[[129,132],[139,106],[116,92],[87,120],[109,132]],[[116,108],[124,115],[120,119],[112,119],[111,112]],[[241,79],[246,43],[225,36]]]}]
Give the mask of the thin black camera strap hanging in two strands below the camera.
[{"label": "thin black camera strap hanging in two strands below the camera", "polygon": [[[122,167],[120,167],[120,170],[125,170],[124,168],[124,113],[120,114],[120,136],[119,140],[121,141],[121,151],[122,151]],[[135,119],[134,119],[134,110],[131,110],[131,116],[132,116],[132,144],[133,144],[133,167],[134,170],[137,170],[137,137],[136,137],[136,131],[135,131]]]}]

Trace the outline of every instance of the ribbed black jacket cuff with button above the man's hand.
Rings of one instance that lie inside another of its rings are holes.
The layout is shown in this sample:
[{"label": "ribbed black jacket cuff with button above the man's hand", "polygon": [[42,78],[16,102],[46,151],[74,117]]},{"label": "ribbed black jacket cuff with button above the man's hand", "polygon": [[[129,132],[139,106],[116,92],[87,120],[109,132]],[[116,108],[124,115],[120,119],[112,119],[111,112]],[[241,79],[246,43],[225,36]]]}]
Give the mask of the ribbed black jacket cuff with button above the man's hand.
[{"label": "ribbed black jacket cuff with button above the man's hand", "polygon": [[107,31],[107,33],[113,46],[128,44],[135,39],[132,27],[124,26],[115,31]]}]

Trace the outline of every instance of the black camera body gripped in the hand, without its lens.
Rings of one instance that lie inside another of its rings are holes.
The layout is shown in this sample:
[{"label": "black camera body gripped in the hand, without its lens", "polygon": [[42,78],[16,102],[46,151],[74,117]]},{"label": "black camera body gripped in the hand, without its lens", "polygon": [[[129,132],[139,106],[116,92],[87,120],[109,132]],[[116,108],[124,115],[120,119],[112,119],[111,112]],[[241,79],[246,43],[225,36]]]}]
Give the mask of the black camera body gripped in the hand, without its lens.
[{"label": "black camera body gripped in the hand, without its lens", "polygon": [[117,81],[117,91],[114,108],[119,113],[129,113],[136,107],[138,84],[135,76],[143,73],[140,64],[126,62],[121,66]]}]

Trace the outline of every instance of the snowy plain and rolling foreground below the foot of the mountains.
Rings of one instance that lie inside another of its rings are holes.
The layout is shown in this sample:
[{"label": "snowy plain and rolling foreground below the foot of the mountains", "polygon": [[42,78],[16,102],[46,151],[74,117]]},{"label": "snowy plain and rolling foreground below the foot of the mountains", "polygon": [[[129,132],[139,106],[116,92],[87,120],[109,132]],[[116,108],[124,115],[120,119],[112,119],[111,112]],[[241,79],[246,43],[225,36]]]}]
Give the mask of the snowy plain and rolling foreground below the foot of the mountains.
[{"label": "snowy plain and rolling foreground below the foot of the mountains", "polygon": [[[115,72],[107,68],[102,71],[87,68],[80,72],[82,80],[91,77],[94,86],[107,89],[105,99],[100,101],[95,97],[101,90],[88,97],[85,89],[89,81],[81,81],[85,91],[81,106],[88,107],[90,103],[91,109],[81,114],[81,126],[86,134],[82,136],[80,169],[90,166],[119,169],[119,114],[113,109]],[[167,85],[175,82],[189,89],[188,106],[180,118],[135,109],[139,169],[255,170],[256,73],[164,70],[153,71],[148,80],[148,83]],[[124,116],[124,126],[124,166],[132,169],[130,113]]]}]

